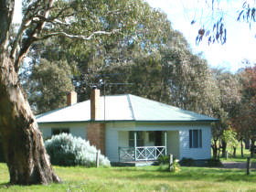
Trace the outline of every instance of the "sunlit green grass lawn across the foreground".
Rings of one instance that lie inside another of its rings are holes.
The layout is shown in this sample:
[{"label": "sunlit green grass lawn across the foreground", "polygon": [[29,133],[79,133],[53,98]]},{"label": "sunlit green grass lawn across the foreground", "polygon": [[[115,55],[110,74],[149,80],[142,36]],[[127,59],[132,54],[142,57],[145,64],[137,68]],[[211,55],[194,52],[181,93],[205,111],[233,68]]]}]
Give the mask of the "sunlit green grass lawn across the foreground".
[{"label": "sunlit green grass lawn across the foreground", "polygon": [[8,171],[0,164],[0,190],[9,191],[256,191],[256,172],[206,167],[181,167],[169,173],[165,167],[85,168],[54,166],[63,184],[7,187]]}]

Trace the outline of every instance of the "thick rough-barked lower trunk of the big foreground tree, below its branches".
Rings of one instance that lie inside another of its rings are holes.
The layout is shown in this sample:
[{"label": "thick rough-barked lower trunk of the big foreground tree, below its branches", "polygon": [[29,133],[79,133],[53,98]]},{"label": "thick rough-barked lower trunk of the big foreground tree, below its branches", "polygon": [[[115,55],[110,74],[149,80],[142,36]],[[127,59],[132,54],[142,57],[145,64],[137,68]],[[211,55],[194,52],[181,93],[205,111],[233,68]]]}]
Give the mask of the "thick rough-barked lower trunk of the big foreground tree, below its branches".
[{"label": "thick rough-barked lower trunk of the big foreground tree, below its branches", "polygon": [[50,164],[42,135],[18,82],[14,59],[0,52],[0,131],[10,183],[61,182]]}]

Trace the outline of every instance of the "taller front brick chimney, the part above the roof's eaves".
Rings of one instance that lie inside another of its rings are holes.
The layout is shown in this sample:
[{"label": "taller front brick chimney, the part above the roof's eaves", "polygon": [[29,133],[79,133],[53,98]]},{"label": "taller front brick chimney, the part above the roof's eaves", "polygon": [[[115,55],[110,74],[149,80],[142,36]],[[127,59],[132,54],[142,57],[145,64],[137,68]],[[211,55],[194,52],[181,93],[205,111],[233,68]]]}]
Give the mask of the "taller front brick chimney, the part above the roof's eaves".
[{"label": "taller front brick chimney, the part above the roof's eaves", "polygon": [[96,87],[91,90],[91,121],[99,119],[101,92]]}]

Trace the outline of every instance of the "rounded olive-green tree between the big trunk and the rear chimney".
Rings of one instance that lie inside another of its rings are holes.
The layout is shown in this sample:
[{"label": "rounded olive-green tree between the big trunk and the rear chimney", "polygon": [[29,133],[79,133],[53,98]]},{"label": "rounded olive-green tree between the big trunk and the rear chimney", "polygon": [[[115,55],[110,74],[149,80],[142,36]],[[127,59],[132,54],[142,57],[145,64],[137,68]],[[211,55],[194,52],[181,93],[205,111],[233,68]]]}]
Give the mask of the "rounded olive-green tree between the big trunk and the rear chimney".
[{"label": "rounded olive-green tree between the big trunk and the rear chimney", "polygon": [[28,101],[35,113],[48,112],[67,105],[67,93],[74,90],[72,71],[67,61],[40,59],[30,70]]}]

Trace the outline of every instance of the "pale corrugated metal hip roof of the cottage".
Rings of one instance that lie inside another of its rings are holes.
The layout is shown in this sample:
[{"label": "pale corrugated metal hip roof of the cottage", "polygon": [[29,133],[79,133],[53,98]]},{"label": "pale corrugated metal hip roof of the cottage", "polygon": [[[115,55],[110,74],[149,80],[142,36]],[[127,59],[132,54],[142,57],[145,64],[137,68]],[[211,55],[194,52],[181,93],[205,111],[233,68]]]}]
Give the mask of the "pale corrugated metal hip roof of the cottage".
[{"label": "pale corrugated metal hip roof of the cottage", "polygon": [[[97,121],[213,122],[217,119],[131,94],[101,96]],[[105,106],[105,107],[104,107]],[[105,108],[105,109],[104,109]],[[91,101],[37,115],[37,123],[91,122]]]}]

